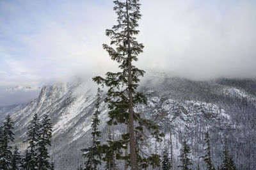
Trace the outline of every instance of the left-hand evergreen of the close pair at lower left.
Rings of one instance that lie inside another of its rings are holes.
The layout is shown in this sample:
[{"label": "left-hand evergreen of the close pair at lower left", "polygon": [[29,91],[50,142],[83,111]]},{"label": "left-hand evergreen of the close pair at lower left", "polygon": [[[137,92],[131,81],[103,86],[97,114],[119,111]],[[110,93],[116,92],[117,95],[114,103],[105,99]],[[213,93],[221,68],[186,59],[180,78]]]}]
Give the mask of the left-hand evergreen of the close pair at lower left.
[{"label": "left-hand evergreen of the close pair at lower left", "polygon": [[38,168],[37,165],[37,159],[38,155],[36,153],[36,147],[38,146],[38,141],[39,141],[39,120],[37,114],[34,114],[33,120],[30,121],[28,125],[28,132],[27,132],[27,137],[24,142],[28,142],[28,155],[26,155],[26,159],[29,161],[27,162],[27,169],[36,169]]}]

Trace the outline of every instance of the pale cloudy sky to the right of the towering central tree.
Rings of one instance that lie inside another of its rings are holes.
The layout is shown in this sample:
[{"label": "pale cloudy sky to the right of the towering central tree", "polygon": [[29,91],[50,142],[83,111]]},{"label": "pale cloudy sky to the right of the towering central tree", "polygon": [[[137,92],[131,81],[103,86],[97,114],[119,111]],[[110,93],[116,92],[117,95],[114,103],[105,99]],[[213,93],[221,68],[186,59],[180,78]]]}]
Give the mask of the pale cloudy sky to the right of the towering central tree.
[{"label": "pale cloudy sky to the right of the towering central tree", "polygon": [[255,79],[255,8],[255,1],[149,1],[140,65],[189,79]]}]

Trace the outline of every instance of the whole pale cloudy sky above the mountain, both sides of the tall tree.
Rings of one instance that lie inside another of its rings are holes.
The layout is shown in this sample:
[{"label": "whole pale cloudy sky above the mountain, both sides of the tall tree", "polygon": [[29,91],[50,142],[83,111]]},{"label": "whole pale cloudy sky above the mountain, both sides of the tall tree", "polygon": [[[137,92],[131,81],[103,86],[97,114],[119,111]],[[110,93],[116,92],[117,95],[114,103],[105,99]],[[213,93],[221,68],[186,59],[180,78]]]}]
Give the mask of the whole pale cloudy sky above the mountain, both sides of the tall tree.
[{"label": "whole pale cloudy sky above the mountain, both sides of the tall tree", "polygon": [[[191,79],[256,78],[256,1],[141,0],[136,65]],[[1,0],[0,87],[115,70],[102,49],[111,0]]]}]

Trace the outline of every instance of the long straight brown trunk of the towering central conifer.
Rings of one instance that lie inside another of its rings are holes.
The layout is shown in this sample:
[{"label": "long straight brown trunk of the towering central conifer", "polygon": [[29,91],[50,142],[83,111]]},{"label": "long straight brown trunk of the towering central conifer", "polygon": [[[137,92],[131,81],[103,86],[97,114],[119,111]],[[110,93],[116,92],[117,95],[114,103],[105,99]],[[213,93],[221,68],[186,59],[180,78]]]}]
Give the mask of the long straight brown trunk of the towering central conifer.
[{"label": "long straight brown trunk of the towering central conifer", "polygon": [[136,151],[135,151],[135,136],[133,124],[133,109],[132,109],[132,61],[131,61],[131,42],[130,42],[130,26],[128,0],[126,0],[126,15],[127,15],[127,45],[128,45],[128,91],[129,91],[129,137],[130,137],[130,153],[131,153],[131,170],[137,169]]}]

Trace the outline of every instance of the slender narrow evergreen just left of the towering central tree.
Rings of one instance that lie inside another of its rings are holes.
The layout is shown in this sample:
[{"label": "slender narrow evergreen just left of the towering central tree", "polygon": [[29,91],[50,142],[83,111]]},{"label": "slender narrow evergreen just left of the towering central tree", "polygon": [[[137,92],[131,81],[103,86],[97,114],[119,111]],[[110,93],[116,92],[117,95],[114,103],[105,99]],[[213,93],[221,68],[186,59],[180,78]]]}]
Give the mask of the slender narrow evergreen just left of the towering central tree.
[{"label": "slender narrow evergreen just left of the towering central tree", "polygon": [[100,120],[99,120],[99,114],[100,114],[100,94],[102,91],[100,88],[98,88],[97,91],[97,101],[95,104],[95,112],[93,113],[93,119],[92,119],[92,146],[83,149],[82,151],[83,156],[87,158],[85,162],[85,168],[84,169],[97,169],[97,166],[101,164],[101,153],[100,153],[100,141],[97,141],[97,137],[100,135],[100,131],[98,129]]}]

